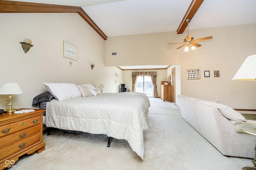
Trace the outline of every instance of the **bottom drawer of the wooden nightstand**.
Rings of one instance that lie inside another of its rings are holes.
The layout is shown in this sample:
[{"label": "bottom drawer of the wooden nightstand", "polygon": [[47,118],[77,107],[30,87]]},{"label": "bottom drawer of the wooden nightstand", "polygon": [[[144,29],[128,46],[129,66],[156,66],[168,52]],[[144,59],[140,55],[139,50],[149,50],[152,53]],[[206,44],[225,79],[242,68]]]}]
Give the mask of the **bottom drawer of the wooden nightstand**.
[{"label": "bottom drawer of the wooden nightstand", "polygon": [[19,152],[22,149],[30,147],[31,145],[33,145],[34,143],[37,143],[38,141],[40,141],[40,133],[38,133],[30,138],[23,139],[22,141],[13,143],[12,145],[8,145],[8,146],[0,149],[0,160],[6,158],[16,152]]}]

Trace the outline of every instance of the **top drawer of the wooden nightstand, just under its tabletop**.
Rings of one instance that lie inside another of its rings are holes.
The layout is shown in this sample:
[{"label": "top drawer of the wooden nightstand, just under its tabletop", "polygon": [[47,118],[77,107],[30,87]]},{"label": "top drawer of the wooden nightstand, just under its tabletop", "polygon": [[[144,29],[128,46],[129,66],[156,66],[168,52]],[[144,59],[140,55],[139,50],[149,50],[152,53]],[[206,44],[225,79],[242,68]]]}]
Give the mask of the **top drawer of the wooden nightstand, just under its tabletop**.
[{"label": "top drawer of the wooden nightstand, just under its tabletop", "polygon": [[1,126],[0,137],[9,135],[10,133],[14,133],[22,129],[26,129],[36,124],[40,124],[40,121],[41,121],[40,116],[37,116],[37,117],[32,117],[30,119],[24,119],[22,121],[17,121],[14,123],[10,123],[8,125]]}]

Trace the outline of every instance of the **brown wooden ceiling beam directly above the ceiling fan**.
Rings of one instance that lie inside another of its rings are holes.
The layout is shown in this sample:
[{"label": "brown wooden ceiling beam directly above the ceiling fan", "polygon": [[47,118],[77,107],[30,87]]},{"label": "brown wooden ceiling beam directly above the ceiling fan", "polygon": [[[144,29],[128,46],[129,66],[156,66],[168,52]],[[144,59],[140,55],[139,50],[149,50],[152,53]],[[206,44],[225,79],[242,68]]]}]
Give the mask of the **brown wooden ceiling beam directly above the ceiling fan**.
[{"label": "brown wooden ceiling beam directly above the ceiling fan", "polygon": [[204,2],[204,0],[192,0],[190,6],[188,7],[186,14],[184,15],[184,17],[177,29],[177,34],[182,34],[185,31],[186,27],[188,26],[186,19],[190,18],[192,20],[192,18],[194,17],[194,15],[196,14],[197,10],[199,9],[199,7],[201,6],[201,4],[203,2]]}]

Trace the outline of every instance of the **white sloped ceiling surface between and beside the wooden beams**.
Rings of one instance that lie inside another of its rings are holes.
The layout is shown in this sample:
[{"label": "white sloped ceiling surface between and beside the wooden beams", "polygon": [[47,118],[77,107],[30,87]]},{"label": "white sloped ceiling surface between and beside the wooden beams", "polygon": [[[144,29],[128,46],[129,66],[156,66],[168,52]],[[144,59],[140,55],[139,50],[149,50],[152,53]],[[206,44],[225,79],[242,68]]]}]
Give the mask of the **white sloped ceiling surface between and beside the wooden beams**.
[{"label": "white sloped ceiling surface between and beside the wooden beams", "polygon": [[[176,31],[192,0],[18,1],[80,6],[107,37],[113,37]],[[190,21],[189,28],[200,29],[248,23],[256,23],[256,0],[204,0]]]}]

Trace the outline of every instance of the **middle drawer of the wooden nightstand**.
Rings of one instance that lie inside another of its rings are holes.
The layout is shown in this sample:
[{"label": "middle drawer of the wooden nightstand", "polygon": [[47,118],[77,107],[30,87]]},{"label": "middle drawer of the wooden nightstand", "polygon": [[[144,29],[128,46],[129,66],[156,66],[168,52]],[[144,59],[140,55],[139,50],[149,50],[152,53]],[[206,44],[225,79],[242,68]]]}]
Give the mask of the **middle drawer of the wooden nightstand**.
[{"label": "middle drawer of the wooden nightstand", "polygon": [[40,124],[0,137],[0,149],[40,133]]}]

